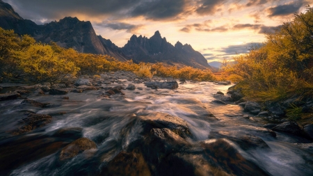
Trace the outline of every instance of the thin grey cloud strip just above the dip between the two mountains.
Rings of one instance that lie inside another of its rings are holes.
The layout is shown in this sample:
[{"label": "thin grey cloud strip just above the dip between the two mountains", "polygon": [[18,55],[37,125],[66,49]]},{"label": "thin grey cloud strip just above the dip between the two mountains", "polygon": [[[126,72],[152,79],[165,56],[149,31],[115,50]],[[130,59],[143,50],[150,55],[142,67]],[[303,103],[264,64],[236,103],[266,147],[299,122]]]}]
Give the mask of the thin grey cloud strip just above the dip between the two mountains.
[{"label": "thin grey cloud strip just above the dip between the two mountains", "polygon": [[95,26],[100,26],[104,28],[110,28],[113,30],[126,30],[128,33],[137,33],[137,31],[141,28],[143,28],[144,25],[138,24],[127,24],[122,22],[103,22],[103,23],[97,23]]}]

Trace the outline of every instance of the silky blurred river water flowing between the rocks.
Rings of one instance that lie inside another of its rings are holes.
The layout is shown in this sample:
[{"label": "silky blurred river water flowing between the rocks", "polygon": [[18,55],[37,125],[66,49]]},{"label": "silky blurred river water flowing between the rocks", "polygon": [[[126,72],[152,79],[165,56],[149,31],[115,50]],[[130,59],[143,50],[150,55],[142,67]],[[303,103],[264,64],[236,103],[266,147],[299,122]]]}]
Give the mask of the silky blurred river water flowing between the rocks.
[{"label": "silky blurred river water flowing between the rocks", "polygon": [[[127,80],[124,81],[127,85]],[[115,83],[117,86],[121,84]],[[104,85],[105,86],[105,85]],[[211,82],[188,82],[179,84],[176,90],[154,90],[145,87],[143,83],[135,83],[136,90],[123,90],[122,95],[103,97],[104,90],[89,90],[84,93],[69,93],[69,99],[64,95],[33,96],[42,103],[50,103],[48,108],[21,106],[22,99],[0,102],[0,140],[9,141],[12,137],[8,131],[15,128],[16,122],[25,117],[25,112],[49,114],[53,117],[51,123],[35,130],[31,135],[47,135],[64,127],[81,127],[83,137],[97,143],[97,150],[88,154],[79,154],[63,165],[56,164],[58,153],[24,163],[15,168],[10,175],[74,175],[73,170],[89,170],[86,174],[93,175],[104,163],[113,159],[120,151],[139,138],[142,127],[138,122],[132,122],[136,115],[150,112],[163,112],[175,115],[185,120],[193,134],[192,141],[209,141],[211,131],[240,131],[262,138],[271,150],[252,149],[240,153],[269,175],[313,175],[312,150],[302,145],[305,139],[286,134],[276,133],[268,136],[256,127],[262,127],[262,118],[242,118],[244,113],[235,104],[214,104],[213,95],[217,91],[227,92],[230,86],[216,85]],[[142,90],[138,89],[142,88]],[[214,117],[209,117],[211,112]],[[131,124],[131,127],[129,126]],[[129,129],[126,133],[125,129]],[[308,142],[308,141],[305,141]],[[8,142],[7,142],[8,143]],[[251,173],[253,175],[253,173]]]}]

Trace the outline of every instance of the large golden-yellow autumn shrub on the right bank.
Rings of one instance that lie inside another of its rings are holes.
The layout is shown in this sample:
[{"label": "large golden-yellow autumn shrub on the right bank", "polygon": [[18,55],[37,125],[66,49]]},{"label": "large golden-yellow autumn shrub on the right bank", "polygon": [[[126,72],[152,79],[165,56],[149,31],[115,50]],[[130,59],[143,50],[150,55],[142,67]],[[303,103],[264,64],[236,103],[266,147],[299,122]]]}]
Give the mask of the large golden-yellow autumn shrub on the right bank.
[{"label": "large golden-yellow autumn shrub on the right bank", "polygon": [[278,100],[291,95],[312,97],[313,93],[313,9],[295,15],[266,42],[251,47],[248,54],[234,57],[225,71],[251,99]]}]

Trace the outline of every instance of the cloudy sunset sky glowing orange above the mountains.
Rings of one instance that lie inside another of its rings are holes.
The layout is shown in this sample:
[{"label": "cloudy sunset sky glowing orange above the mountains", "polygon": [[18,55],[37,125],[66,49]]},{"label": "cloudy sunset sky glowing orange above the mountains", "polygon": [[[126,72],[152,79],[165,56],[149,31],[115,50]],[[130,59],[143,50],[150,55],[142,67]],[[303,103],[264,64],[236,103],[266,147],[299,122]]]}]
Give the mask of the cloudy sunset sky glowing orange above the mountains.
[{"label": "cloudy sunset sky glowing orange above the mountains", "polygon": [[172,45],[190,44],[208,62],[248,53],[313,0],[3,0],[36,24],[77,17],[123,47],[131,35],[155,31]]}]

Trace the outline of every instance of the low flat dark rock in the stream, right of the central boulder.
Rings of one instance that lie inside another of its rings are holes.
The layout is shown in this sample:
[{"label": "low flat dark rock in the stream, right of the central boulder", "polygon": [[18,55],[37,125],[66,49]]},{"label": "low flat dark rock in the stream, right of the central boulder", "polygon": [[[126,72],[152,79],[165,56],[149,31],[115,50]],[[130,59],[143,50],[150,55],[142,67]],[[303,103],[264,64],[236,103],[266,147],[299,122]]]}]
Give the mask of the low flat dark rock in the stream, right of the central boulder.
[{"label": "low flat dark rock in the stream, right of the central boulder", "polygon": [[227,138],[239,145],[239,147],[241,147],[243,150],[270,148],[262,140],[262,138],[252,134],[243,134],[239,131],[211,131],[209,138]]}]

